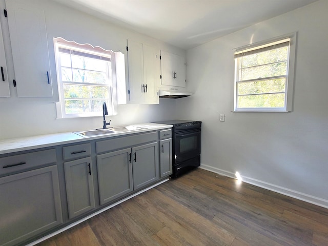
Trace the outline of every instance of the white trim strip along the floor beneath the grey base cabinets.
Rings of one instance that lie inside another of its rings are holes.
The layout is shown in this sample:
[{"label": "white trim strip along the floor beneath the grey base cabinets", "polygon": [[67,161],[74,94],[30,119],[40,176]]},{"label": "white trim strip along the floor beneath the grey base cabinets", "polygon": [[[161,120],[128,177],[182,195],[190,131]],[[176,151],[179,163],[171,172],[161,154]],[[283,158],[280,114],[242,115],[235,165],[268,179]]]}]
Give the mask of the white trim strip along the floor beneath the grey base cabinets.
[{"label": "white trim strip along the floor beneath the grey base cabinets", "polygon": [[61,229],[59,229],[58,231],[55,231],[55,232],[53,232],[53,233],[51,233],[51,234],[49,234],[49,235],[47,235],[47,236],[44,236],[44,237],[42,237],[42,238],[39,238],[39,239],[37,239],[37,240],[34,241],[34,242],[31,242],[31,243],[29,243],[29,244],[26,244],[26,246],[32,246],[32,245],[35,245],[35,244],[40,243],[40,242],[42,242],[42,241],[45,241],[45,240],[47,240],[47,239],[49,239],[49,238],[51,238],[51,237],[53,237],[53,236],[55,236],[55,235],[57,235],[57,234],[59,234],[59,233],[61,233],[61,232],[64,232],[64,231],[66,231],[66,230],[68,230],[68,229],[70,229],[70,228],[72,228],[72,227],[75,227],[77,224],[79,224],[79,223],[81,223],[81,222],[84,222],[84,221],[86,221],[86,220],[88,220],[88,219],[90,219],[90,218],[92,218],[92,217],[94,217],[94,216],[96,216],[96,215],[98,215],[98,214],[100,214],[100,213],[103,213],[103,212],[105,212],[106,210],[109,210],[109,209],[115,207],[116,205],[118,205],[118,204],[120,204],[120,203],[122,203],[122,202],[124,202],[124,201],[127,201],[127,200],[131,199],[132,197],[135,197],[135,196],[137,196],[137,195],[139,195],[139,194],[141,194],[141,193],[144,193],[144,192],[146,192],[146,191],[148,191],[148,190],[150,190],[150,189],[152,189],[152,188],[154,188],[154,187],[156,187],[156,186],[159,186],[159,185],[161,185],[162,183],[164,183],[164,182],[166,182],[166,181],[169,181],[169,180],[170,180],[170,179],[167,178],[167,179],[164,179],[164,180],[162,180],[162,181],[160,181],[160,182],[158,182],[158,183],[155,183],[155,185],[152,185],[152,186],[150,186],[150,187],[147,187],[147,188],[144,189],[144,190],[141,190],[141,191],[139,191],[139,192],[137,192],[137,193],[132,194],[131,196],[128,196],[128,197],[126,197],[126,198],[124,198],[124,199],[122,199],[122,200],[119,200],[119,201],[117,201],[117,202],[111,204],[110,206],[108,206],[108,207],[106,207],[106,208],[103,208],[103,209],[101,209],[101,210],[98,210],[97,212],[95,212],[95,213],[93,213],[93,214],[90,214],[90,215],[88,215],[88,216],[86,216],[86,217],[84,217],[84,218],[82,218],[82,219],[80,219],[80,220],[78,220],[78,221],[75,221],[74,223],[69,224],[67,227],[61,228]]}]

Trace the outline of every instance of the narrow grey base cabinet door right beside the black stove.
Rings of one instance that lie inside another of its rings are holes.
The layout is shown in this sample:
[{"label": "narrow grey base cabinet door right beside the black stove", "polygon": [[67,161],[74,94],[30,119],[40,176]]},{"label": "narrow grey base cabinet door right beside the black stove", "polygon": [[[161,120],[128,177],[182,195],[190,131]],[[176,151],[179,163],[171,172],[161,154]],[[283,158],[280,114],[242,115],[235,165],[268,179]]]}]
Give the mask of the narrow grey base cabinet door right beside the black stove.
[{"label": "narrow grey base cabinet door right beside the black stove", "polygon": [[160,177],[172,174],[172,139],[159,141]]}]

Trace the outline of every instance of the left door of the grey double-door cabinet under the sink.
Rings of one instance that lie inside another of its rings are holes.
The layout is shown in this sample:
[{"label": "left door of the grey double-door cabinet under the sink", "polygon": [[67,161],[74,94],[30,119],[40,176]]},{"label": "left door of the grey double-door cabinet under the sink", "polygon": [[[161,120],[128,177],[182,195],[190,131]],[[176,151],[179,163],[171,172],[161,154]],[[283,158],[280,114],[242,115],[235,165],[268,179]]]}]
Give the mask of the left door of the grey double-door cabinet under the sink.
[{"label": "left door of the grey double-door cabinet under the sink", "polygon": [[131,149],[97,156],[100,205],[133,191]]}]

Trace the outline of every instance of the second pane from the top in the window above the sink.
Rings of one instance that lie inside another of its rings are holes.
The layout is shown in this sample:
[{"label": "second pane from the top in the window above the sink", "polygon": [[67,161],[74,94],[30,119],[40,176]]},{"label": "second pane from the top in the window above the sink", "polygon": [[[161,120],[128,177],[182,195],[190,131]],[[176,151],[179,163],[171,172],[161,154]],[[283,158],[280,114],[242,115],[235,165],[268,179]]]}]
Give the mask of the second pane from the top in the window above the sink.
[{"label": "second pane from the top in the window above the sink", "polygon": [[83,69],[73,69],[73,81],[79,83],[109,84],[105,72],[94,72]]}]

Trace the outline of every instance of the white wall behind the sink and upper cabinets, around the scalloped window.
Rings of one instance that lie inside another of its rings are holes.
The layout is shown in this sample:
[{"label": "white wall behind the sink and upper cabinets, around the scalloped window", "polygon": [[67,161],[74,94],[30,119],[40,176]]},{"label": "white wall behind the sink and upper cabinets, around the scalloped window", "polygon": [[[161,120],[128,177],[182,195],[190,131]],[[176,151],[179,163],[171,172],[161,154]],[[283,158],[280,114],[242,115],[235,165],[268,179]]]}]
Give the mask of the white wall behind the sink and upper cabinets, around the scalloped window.
[{"label": "white wall behind the sink and upper cabinets, around the scalloped window", "polygon": [[[142,42],[158,49],[163,49],[186,55],[186,51],[169,46],[133,30],[120,28],[94,16],[81,13],[60,5],[51,0],[22,0],[24,4],[33,4],[35,7],[44,9],[46,15],[46,26],[48,34],[48,45],[52,71],[52,81],[56,85],[56,67],[53,50],[53,37],[63,37],[67,40],[75,40],[77,43],[89,43],[93,46],[101,46],[113,51],[121,51],[126,54],[127,65],[127,39]],[[1,9],[5,8],[5,1],[0,0]],[[10,15],[10,12],[8,13]],[[8,24],[3,26],[8,29]],[[3,21],[2,19],[2,21]],[[7,27],[6,27],[7,25]],[[4,32],[5,32],[4,31]],[[9,81],[14,76],[12,58],[10,57],[9,33],[4,33]],[[9,54],[9,55],[8,55]],[[31,57],[32,60],[37,57]],[[28,79],[28,78],[27,78]],[[93,118],[56,119],[56,108],[54,103],[44,102],[36,99],[17,98],[16,89],[10,83],[10,98],[0,98],[0,139],[24,137],[57,132],[68,132],[78,130],[95,129],[102,126],[102,116]],[[58,91],[54,88],[55,97]],[[33,101],[34,100],[34,101]],[[107,116],[112,120],[113,126],[124,124],[136,124],[155,120],[174,118],[175,101],[160,99],[160,105],[120,105],[118,115]]]}]

